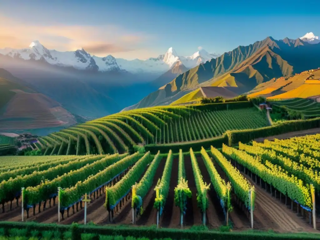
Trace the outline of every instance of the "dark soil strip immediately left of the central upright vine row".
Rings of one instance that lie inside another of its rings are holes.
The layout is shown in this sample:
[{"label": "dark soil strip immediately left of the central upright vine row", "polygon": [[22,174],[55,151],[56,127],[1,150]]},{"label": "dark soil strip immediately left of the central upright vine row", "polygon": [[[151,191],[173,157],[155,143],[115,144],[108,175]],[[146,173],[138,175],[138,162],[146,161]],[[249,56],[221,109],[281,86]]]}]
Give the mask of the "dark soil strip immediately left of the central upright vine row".
[{"label": "dark soil strip immediately left of the central upright vine row", "polygon": [[160,219],[160,226],[164,228],[180,227],[180,209],[174,203],[174,188],[178,185],[178,169],[179,159],[176,158],[173,159],[169,193]]}]

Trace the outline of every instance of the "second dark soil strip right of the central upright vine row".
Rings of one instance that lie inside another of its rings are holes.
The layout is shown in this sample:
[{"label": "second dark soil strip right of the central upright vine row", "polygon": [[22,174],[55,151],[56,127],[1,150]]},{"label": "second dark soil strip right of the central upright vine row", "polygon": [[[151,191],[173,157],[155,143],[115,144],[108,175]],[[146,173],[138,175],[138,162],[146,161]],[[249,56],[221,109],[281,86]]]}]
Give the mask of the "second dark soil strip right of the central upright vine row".
[{"label": "second dark soil strip right of the central upright vine row", "polygon": [[[201,174],[203,176],[203,180],[206,183],[210,183],[209,173],[204,165],[204,161],[201,156],[197,156],[197,161],[199,164],[199,168]],[[212,184],[210,185],[210,190],[208,191],[208,200],[209,206],[206,212],[207,215],[207,227],[211,228],[219,228],[221,225],[225,224],[225,217],[223,213],[223,209],[220,205],[220,200],[217,197],[217,193],[215,192]]]}]

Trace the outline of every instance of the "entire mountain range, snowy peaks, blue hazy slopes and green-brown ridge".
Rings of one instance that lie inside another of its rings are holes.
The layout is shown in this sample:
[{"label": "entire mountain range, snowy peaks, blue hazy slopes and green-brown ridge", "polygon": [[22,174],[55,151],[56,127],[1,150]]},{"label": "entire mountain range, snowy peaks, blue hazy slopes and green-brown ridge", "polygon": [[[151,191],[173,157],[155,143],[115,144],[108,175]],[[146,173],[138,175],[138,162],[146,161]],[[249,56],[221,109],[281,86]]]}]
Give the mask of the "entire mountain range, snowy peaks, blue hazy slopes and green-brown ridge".
[{"label": "entire mountain range, snowy peaks, blue hazy slopes and green-brown ridge", "polygon": [[267,37],[222,55],[199,49],[184,57],[169,48],[147,60],[101,58],[84,49],[59,52],[34,41],[29,48],[0,50],[0,68],[11,73],[0,71],[0,77],[59,103],[73,119],[92,119],[167,105],[200,86],[237,87],[234,92],[241,94],[272,78],[317,68],[319,55],[319,37],[313,33]]}]

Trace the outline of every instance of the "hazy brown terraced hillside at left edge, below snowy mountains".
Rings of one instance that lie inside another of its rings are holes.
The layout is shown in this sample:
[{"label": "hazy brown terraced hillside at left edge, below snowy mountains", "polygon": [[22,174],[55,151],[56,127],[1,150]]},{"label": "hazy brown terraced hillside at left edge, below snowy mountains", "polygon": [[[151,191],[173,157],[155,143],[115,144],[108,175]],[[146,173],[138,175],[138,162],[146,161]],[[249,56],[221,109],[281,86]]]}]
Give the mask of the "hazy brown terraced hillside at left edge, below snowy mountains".
[{"label": "hazy brown terraced hillside at left edge, below snowy mountains", "polygon": [[0,69],[1,132],[68,127],[77,123],[60,103],[18,81],[8,71]]}]

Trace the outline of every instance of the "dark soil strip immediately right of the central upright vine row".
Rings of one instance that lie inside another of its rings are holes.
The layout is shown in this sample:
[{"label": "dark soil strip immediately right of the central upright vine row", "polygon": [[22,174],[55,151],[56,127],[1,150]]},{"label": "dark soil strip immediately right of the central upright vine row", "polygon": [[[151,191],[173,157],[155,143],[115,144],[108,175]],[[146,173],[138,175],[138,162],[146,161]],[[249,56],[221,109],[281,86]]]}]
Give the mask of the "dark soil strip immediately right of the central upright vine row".
[{"label": "dark soil strip immediately right of the central upright vine row", "polygon": [[193,225],[202,224],[202,214],[200,212],[200,208],[197,206],[197,188],[190,156],[184,157],[184,165],[186,169],[186,180],[188,181],[188,186],[192,193],[192,197],[187,200],[187,211],[184,217],[184,226],[191,227]]}]

